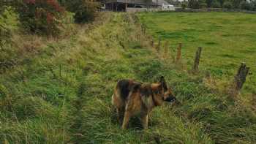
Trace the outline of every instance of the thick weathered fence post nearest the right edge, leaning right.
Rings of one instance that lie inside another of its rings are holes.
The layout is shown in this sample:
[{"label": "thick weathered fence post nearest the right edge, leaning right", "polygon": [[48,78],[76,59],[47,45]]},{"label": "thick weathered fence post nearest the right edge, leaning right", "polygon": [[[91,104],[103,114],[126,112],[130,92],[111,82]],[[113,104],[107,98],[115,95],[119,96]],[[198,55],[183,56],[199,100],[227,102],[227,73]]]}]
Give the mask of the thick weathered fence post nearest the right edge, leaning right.
[{"label": "thick weathered fence post nearest the right edge, leaning right", "polygon": [[249,67],[246,67],[245,63],[241,63],[241,66],[238,69],[237,74],[235,75],[234,79],[234,88],[236,91],[240,91],[244,85],[246,80],[246,76],[248,75]]}]

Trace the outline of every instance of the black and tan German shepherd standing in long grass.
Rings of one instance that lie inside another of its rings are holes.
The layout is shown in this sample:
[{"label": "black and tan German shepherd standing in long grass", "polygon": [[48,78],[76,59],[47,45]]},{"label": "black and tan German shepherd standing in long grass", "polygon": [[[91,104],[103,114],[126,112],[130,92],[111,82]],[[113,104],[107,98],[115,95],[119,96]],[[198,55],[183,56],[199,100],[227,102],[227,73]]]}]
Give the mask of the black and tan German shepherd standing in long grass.
[{"label": "black and tan German shepherd standing in long grass", "polygon": [[143,129],[148,128],[148,113],[163,102],[174,102],[176,97],[167,87],[162,76],[158,83],[137,83],[134,80],[119,80],[112,104],[116,108],[122,129],[127,129],[129,118],[140,115]]}]

